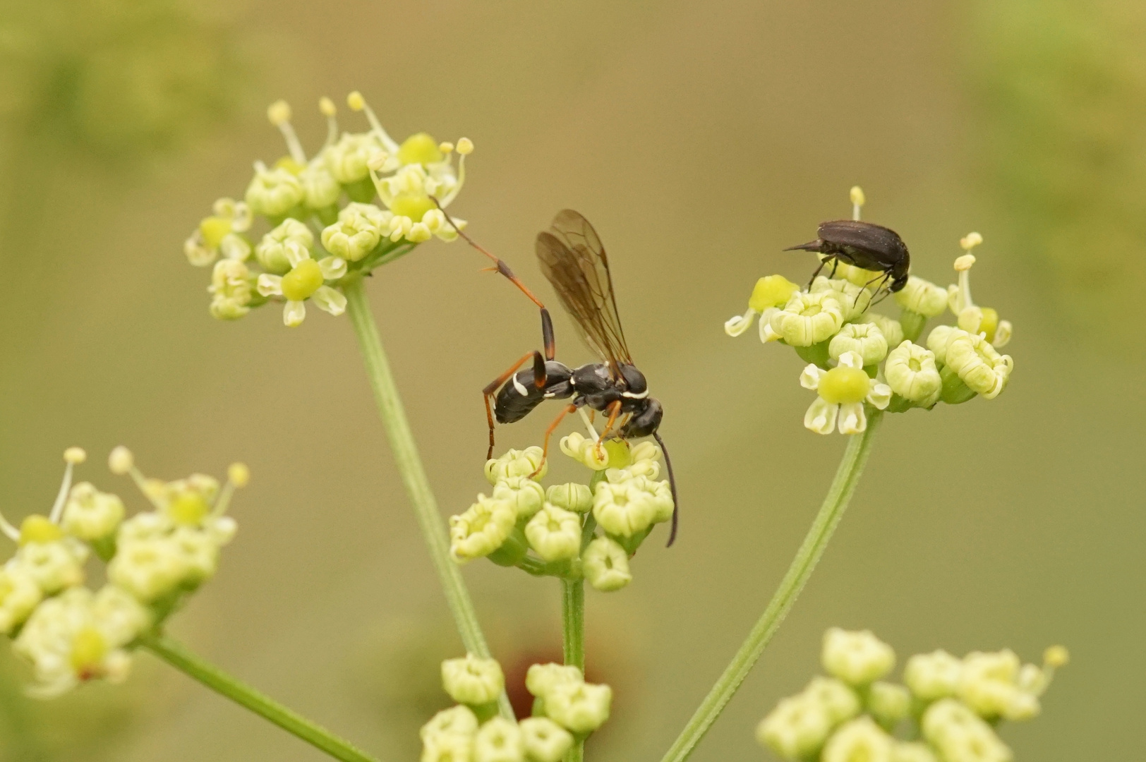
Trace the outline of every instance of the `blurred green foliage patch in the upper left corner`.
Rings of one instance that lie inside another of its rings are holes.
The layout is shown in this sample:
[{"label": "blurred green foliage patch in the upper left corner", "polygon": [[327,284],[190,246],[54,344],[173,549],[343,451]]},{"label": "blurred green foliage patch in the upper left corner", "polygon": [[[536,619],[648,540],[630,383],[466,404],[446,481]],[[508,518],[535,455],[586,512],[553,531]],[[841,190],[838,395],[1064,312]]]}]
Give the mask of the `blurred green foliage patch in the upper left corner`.
[{"label": "blurred green foliage patch in the upper left corner", "polygon": [[0,118],[9,155],[36,139],[134,165],[230,111],[237,55],[226,26],[197,3],[5,6]]}]

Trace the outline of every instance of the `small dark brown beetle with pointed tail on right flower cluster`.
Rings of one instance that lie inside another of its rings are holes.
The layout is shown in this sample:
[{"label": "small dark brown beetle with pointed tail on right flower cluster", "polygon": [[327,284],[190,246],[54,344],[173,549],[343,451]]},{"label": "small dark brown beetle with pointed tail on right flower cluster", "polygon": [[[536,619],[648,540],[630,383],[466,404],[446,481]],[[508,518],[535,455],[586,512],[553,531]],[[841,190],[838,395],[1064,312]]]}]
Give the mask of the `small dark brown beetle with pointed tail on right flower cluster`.
[{"label": "small dark brown beetle with pointed tail on right flower cluster", "polygon": [[903,238],[895,230],[858,220],[833,220],[821,222],[816,235],[819,237],[815,241],[799,246],[788,246],[784,250],[801,249],[824,254],[819,267],[811,275],[813,281],[827,262],[832,262],[833,276],[839,262],[845,262],[859,269],[882,273],[868,283],[871,285],[878,281],[877,291],[884,288],[888,281],[890,281],[890,285],[887,286],[889,292],[900,291],[908,284],[911,256],[908,253],[908,246],[903,243]]}]

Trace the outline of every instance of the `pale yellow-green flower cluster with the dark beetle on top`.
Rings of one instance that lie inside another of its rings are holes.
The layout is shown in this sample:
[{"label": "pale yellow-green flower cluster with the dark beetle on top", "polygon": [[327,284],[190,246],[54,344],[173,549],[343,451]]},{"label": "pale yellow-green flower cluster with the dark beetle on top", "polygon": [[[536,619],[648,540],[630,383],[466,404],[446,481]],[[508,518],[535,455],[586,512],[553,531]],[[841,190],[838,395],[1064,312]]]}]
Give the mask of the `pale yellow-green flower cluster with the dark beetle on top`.
[{"label": "pale yellow-green flower cluster with the dark beetle on top", "polygon": [[[858,189],[854,189],[858,190]],[[862,191],[853,193],[863,198]],[[856,219],[862,201],[855,203]],[[982,243],[978,233],[960,239],[964,251]],[[1006,387],[1014,362],[999,347],[1011,340],[1011,323],[971,297],[965,253],[955,261],[957,283],[947,289],[915,275],[895,293],[897,319],[872,311],[884,294],[873,273],[850,265],[829,266],[808,290],[782,275],[760,278],[748,309],[724,323],[739,336],[759,316],[760,340],[787,344],[808,363],[800,384],[817,393],[804,426],[819,434],[857,434],[871,409],[904,413],[957,404],[976,395],[995,399]],[[927,321],[950,312],[955,325],[937,325],[924,341]]]}]

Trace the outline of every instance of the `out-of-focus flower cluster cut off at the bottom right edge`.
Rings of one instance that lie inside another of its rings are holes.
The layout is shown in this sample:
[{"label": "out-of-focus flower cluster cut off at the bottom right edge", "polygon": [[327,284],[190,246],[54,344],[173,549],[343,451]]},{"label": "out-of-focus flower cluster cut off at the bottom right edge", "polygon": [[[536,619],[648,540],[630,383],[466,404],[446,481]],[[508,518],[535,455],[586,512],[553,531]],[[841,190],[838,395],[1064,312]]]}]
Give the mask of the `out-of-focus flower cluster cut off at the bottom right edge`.
[{"label": "out-of-focus flower cluster cut off at the bottom right edge", "polygon": [[1047,649],[1039,667],[1022,665],[1012,651],[963,659],[934,651],[908,659],[901,685],[885,679],[895,667],[892,646],[868,630],[832,628],[821,661],[830,676],[783,699],[756,728],[761,745],[782,759],[1010,762],[996,726],[1038,714],[1067,652]]}]

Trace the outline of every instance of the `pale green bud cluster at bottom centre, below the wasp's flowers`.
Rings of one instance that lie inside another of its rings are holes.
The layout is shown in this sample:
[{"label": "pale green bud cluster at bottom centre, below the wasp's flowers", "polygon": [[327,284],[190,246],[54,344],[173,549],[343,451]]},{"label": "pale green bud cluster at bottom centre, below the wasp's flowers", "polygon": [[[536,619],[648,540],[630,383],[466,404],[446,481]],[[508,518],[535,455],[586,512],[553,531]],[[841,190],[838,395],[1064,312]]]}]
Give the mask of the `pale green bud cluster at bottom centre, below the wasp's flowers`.
[{"label": "pale green bud cluster at bottom centre, below the wasp's flowers", "polygon": [[533,716],[513,722],[497,716],[505,677],[495,660],[448,659],[441,682],[457,705],[422,726],[422,762],[559,762],[604,724],[613,700],[612,689],[586,683],[576,667],[533,665]]}]

